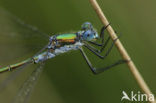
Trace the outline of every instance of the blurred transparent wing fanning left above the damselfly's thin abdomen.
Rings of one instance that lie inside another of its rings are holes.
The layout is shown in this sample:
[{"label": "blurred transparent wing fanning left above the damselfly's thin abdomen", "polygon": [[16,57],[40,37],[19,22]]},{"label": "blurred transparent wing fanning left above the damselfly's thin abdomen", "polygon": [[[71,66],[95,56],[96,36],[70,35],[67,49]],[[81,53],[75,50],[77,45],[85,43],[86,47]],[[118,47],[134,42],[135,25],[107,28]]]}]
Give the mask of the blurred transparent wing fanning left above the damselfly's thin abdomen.
[{"label": "blurred transparent wing fanning left above the damselfly's thin abdomen", "polygon": [[0,8],[0,67],[33,56],[48,41],[47,34]]}]

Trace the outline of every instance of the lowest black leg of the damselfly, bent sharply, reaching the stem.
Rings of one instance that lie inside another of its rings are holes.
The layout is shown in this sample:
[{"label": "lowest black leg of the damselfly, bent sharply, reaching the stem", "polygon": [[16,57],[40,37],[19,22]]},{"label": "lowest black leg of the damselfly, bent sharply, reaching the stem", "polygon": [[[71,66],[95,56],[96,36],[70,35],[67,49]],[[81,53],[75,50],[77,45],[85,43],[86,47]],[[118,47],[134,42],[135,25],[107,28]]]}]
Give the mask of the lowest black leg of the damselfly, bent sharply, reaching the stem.
[{"label": "lowest black leg of the damselfly, bent sharply, reaching the stem", "polygon": [[125,62],[126,62],[125,60],[119,60],[119,61],[115,62],[114,64],[109,65],[109,66],[107,66],[107,67],[104,67],[104,68],[95,68],[95,67],[92,66],[90,60],[88,59],[87,55],[85,54],[85,52],[83,51],[82,48],[80,48],[80,51],[81,51],[81,53],[82,53],[84,59],[86,60],[88,66],[90,67],[91,71],[92,71],[94,74],[102,73],[102,72],[104,72],[105,70],[108,70],[108,69],[110,69],[110,68],[112,68],[112,67],[114,67],[114,66],[117,66],[117,65],[119,65],[119,64],[122,64],[122,63],[125,63]]}]

